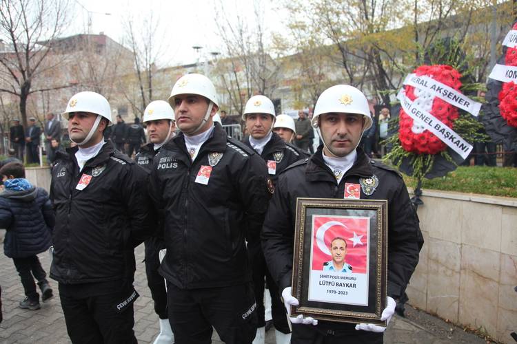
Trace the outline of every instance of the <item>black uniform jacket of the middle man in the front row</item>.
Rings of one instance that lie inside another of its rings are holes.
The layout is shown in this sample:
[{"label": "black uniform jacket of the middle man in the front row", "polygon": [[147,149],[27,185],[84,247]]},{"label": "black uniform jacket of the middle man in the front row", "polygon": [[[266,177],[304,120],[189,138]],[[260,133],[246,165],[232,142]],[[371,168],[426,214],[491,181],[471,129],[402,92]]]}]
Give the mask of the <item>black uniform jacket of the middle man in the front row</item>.
[{"label": "black uniform jacket of the middle man in the front row", "polygon": [[[201,167],[210,167],[211,153],[222,157],[212,160],[207,185],[196,182]],[[151,174],[152,197],[165,213],[161,275],[182,289],[250,281],[245,239],[260,240],[270,199],[266,178],[259,155],[227,137],[219,123],[194,162],[183,133],[161,147]]]}]

